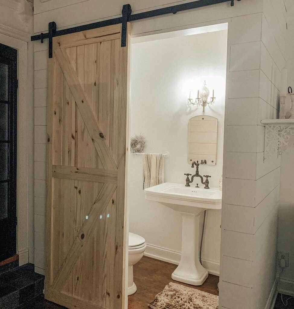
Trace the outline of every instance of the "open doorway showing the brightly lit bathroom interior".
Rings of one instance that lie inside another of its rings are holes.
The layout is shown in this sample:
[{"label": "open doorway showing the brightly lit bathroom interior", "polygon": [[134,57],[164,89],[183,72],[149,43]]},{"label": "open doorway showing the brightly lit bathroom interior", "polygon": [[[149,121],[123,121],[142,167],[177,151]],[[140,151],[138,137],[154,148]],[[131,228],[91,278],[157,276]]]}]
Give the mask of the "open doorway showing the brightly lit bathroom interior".
[{"label": "open doorway showing the brightly lit bathroom interior", "polygon": [[128,309],[218,302],[227,42],[228,23],[131,40]]}]

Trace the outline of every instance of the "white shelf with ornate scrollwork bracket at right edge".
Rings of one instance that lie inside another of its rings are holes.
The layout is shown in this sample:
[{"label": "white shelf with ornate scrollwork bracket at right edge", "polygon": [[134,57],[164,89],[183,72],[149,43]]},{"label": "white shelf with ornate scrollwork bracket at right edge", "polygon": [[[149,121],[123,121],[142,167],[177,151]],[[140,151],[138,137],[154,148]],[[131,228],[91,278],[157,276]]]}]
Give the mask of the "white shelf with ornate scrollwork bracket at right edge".
[{"label": "white shelf with ornate scrollwork bracket at right edge", "polygon": [[264,160],[272,155],[279,157],[294,136],[294,119],[265,119],[261,123],[265,125]]}]

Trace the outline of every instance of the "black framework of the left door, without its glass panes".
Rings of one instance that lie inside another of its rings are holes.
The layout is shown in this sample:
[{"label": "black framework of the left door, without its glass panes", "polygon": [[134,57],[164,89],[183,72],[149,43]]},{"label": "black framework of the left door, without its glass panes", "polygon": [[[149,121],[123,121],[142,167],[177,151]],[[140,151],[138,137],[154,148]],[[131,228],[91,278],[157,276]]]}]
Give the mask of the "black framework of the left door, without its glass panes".
[{"label": "black framework of the left door, without its glass panes", "polygon": [[8,105],[8,140],[0,141],[8,145],[7,218],[0,220],[0,261],[16,253],[17,225],[17,50],[0,44],[0,62],[8,65],[8,100],[0,104]]}]

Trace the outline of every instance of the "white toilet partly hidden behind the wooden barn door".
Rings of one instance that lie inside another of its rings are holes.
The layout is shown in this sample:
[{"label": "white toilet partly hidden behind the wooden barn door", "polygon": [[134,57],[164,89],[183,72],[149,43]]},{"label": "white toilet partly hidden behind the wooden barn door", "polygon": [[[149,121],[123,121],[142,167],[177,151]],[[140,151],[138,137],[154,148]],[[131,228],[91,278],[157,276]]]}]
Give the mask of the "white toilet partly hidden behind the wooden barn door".
[{"label": "white toilet partly hidden behind the wooden barn door", "polygon": [[133,265],[142,259],[145,249],[145,239],[134,233],[129,233],[128,295],[132,295],[137,291],[137,286],[134,283]]}]

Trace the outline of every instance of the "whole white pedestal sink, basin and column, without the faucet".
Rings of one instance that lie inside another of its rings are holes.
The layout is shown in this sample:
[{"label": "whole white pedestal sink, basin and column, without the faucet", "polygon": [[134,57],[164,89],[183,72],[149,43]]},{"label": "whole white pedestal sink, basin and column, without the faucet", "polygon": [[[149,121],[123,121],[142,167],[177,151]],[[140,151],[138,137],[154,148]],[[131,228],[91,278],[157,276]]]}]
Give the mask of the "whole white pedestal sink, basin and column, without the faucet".
[{"label": "whole white pedestal sink, basin and column, without the faucet", "polygon": [[206,209],[221,209],[222,192],[219,189],[185,187],[164,183],[144,190],[147,200],[156,201],[182,216],[181,261],[172,279],[200,286],[208,277],[199,262],[199,215]]}]

